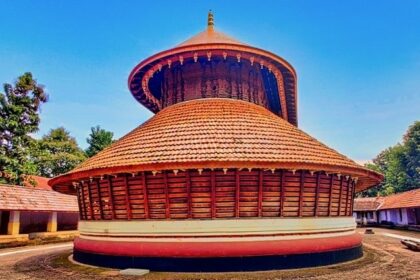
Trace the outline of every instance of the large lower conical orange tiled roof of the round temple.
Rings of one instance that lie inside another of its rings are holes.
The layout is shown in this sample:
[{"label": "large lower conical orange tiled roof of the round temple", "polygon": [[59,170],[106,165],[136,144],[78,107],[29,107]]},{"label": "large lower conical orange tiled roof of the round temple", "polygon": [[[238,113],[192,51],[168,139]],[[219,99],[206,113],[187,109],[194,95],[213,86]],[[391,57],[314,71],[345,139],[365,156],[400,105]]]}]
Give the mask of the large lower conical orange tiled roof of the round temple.
[{"label": "large lower conical orange tiled roof of the round temple", "polygon": [[117,172],[186,168],[287,168],[382,176],[320,143],[262,106],[227,98],[167,107],[51,185]]}]

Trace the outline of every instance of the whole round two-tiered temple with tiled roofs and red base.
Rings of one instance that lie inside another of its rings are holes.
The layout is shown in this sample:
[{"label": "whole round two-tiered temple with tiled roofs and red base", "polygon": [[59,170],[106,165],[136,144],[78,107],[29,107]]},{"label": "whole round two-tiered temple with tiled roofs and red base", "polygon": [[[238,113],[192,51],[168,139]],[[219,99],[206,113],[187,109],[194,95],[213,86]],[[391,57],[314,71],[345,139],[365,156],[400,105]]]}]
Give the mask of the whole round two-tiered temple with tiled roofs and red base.
[{"label": "whole round two-tiered temple with tiled roofs and red base", "polygon": [[74,259],[155,271],[326,265],[362,255],[354,193],[368,170],[298,128],[296,72],[214,27],[140,62],[155,115],[53,178],[78,197]]}]

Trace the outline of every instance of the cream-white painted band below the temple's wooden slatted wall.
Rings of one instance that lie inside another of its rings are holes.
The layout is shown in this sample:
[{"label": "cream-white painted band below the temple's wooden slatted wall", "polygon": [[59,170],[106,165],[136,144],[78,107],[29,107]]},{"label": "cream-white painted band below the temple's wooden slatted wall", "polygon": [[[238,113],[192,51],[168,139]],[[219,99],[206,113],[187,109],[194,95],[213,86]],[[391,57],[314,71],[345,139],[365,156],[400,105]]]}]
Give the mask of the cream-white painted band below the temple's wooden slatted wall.
[{"label": "cream-white painted band below the temple's wooden slatted wall", "polygon": [[353,217],[79,221],[81,235],[129,237],[291,235],[350,231],[355,228]]}]

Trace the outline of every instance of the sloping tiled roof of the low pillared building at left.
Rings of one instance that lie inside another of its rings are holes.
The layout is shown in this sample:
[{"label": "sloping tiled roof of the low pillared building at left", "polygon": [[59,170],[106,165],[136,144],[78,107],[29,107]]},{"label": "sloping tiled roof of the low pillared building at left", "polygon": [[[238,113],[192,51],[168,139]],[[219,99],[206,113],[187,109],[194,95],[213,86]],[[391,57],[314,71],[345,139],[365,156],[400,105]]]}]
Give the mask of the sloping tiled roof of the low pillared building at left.
[{"label": "sloping tiled roof of the low pillared building at left", "polygon": [[79,208],[72,195],[0,184],[0,210],[78,212]]}]

